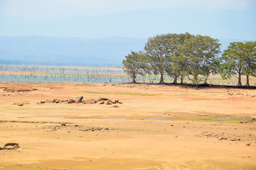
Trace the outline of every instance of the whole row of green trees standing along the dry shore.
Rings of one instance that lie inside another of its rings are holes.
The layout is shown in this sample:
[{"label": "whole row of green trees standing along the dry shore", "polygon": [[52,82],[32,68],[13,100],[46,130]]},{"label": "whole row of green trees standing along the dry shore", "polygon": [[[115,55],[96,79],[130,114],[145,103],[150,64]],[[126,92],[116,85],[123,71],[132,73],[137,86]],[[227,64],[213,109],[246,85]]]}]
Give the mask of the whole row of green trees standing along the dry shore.
[{"label": "whole row of green trees standing along the dry shore", "polygon": [[210,74],[220,74],[223,79],[247,77],[246,86],[250,86],[249,77],[256,76],[256,41],[231,42],[228,49],[220,52],[218,39],[203,35],[163,34],[151,37],[144,50],[131,51],[123,60],[123,69],[132,83],[136,83],[138,74],[160,75],[160,84],[164,75],[174,78],[188,77],[193,84],[207,83]]}]

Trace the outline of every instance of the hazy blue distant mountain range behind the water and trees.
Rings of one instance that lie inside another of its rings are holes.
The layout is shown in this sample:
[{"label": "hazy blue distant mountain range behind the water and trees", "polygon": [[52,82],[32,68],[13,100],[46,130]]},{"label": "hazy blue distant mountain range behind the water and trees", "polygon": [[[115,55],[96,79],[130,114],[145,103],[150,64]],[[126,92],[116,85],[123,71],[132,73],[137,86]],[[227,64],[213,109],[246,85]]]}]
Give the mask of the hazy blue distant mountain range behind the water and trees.
[{"label": "hazy blue distant mountain range behind the water and trees", "polygon": [[[131,50],[143,50],[143,38],[0,37],[0,64],[121,67]],[[220,39],[222,50],[230,42]]]}]

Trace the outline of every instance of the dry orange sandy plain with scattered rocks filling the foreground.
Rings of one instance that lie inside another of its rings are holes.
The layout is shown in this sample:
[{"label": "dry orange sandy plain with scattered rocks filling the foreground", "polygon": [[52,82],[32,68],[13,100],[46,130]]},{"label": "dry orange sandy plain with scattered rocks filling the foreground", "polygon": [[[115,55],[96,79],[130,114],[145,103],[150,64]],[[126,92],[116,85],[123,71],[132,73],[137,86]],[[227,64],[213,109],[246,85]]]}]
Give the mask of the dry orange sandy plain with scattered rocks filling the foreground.
[{"label": "dry orange sandy plain with scattered rocks filling the foreground", "polygon": [[[20,146],[0,150],[0,169],[256,169],[256,123],[239,123],[256,117],[256,90],[18,82],[0,88],[0,147]],[[122,104],[40,103],[77,96]]]}]

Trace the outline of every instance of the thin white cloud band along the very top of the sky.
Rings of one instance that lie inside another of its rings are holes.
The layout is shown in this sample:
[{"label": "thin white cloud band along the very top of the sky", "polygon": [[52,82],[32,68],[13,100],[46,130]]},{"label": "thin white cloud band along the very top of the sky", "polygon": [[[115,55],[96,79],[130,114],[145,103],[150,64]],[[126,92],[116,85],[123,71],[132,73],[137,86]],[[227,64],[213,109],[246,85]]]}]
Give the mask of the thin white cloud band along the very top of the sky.
[{"label": "thin white cloud band along the very top of the sky", "polygon": [[98,16],[127,11],[255,8],[255,0],[0,0],[0,14],[22,18]]}]

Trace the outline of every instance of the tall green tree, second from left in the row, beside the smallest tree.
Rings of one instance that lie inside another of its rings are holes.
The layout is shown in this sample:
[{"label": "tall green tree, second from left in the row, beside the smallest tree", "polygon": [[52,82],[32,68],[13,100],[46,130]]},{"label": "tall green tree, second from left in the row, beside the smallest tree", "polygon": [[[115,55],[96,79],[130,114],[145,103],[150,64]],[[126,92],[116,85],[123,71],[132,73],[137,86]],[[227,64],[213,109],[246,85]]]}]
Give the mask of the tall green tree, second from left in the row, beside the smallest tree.
[{"label": "tall green tree, second from left in the row, beside the smallest tree", "polygon": [[166,35],[156,35],[155,37],[149,38],[144,47],[146,51],[146,62],[155,75],[160,74],[160,84],[164,83],[164,74],[166,74],[166,67],[168,67],[166,56],[168,46],[166,40]]}]

